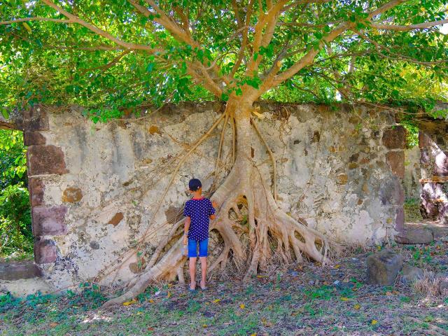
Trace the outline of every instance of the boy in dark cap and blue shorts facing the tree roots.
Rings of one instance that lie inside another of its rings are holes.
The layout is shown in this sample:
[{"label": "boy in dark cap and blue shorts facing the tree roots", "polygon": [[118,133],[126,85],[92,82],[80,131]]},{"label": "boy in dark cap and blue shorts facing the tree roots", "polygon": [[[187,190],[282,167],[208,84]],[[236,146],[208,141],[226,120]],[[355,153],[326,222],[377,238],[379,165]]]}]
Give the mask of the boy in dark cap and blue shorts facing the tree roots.
[{"label": "boy in dark cap and blue shorts facing the tree roots", "polygon": [[199,244],[199,258],[201,260],[202,279],[201,289],[205,290],[207,276],[207,247],[209,244],[209,220],[215,219],[216,202],[210,202],[202,197],[202,183],[198,179],[191,179],[188,183],[193,198],[186,202],[183,216],[186,216],[183,233],[183,244],[188,243],[188,258],[190,258],[190,290],[196,289],[196,258]]}]

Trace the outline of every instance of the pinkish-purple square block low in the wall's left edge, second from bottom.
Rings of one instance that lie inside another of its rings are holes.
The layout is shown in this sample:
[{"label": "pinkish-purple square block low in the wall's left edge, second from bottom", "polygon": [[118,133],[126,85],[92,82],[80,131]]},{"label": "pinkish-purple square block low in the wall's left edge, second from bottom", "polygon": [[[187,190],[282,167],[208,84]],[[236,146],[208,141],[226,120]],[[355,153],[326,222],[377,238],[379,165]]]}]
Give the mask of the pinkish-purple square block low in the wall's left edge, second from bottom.
[{"label": "pinkish-purple square block low in the wall's left edge, second from bottom", "polygon": [[31,211],[35,236],[65,235],[67,233],[65,224],[66,206],[33,207]]}]

